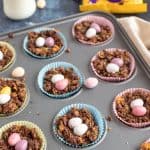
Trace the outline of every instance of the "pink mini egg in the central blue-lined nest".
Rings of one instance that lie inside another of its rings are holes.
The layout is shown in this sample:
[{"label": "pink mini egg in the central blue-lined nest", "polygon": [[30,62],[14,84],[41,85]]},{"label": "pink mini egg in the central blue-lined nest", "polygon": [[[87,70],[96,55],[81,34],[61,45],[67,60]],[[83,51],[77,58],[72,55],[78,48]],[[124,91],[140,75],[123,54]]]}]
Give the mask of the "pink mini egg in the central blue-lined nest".
[{"label": "pink mini egg in the central blue-lined nest", "polygon": [[62,90],[64,90],[68,86],[68,84],[69,84],[68,79],[63,79],[63,80],[57,81],[55,83],[55,88],[57,90],[62,91]]}]

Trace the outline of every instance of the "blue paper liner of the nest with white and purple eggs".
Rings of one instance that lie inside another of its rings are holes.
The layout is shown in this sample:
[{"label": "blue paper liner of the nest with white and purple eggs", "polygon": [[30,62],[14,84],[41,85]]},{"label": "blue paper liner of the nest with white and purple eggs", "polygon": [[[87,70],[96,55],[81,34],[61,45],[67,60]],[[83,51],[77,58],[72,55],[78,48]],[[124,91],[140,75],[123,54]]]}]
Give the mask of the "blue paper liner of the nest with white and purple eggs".
[{"label": "blue paper liner of the nest with white and purple eggs", "polygon": [[38,28],[38,29],[35,29],[33,30],[34,32],[41,32],[41,31],[45,31],[45,30],[52,30],[52,31],[56,31],[57,35],[59,36],[59,38],[61,39],[62,43],[63,43],[63,46],[62,48],[55,54],[51,55],[51,56],[38,56],[34,53],[32,53],[29,49],[28,49],[28,36],[26,36],[24,38],[24,41],[23,41],[23,48],[25,50],[25,52],[27,54],[29,54],[30,56],[34,57],[34,58],[38,58],[38,59],[55,59],[57,57],[59,57],[60,55],[62,55],[65,51],[65,49],[67,48],[67,40],[65,38],[65,36],[58,30],[54,29],[54,28]]}]

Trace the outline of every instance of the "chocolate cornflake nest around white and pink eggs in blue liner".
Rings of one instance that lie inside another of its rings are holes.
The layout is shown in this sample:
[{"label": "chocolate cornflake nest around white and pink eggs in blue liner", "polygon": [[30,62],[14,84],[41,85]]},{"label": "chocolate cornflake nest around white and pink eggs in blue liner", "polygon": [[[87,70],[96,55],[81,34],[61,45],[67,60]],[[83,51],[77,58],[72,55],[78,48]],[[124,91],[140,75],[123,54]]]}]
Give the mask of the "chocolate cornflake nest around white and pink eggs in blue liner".
[{"label": "chocolate cornflake nest around white and pink eggs in blue liner", "polygon": [[[68,79],[69,84],[64,90],[61,91],[57,90],[55,88],[55,84],[52,83],[51,78],[55,74],[62,74],[66,79]],[[61,94],[72,92],[77,88],[79,88],[79,86],[80,86],[80,79],[78,75],[74,72],[73,68],[58,67],[55,69],[51,69],[46,72],[43,81],[44,90],[53,95],[61,95]]]}]

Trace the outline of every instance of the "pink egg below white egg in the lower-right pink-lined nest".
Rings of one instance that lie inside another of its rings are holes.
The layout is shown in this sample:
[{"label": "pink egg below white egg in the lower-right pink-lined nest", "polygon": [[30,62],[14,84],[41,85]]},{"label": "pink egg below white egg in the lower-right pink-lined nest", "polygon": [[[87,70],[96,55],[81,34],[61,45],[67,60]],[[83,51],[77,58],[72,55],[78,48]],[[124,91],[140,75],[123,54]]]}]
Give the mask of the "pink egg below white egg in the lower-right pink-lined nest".
[{"label": "pink egg below white egg in the lower-right pink-lined nest", "polygon": [[137,106],[132,109],[132,114],[137,117],[144,116],[146,114],[146,112],[147,112],[147,110],[143,106]]}]

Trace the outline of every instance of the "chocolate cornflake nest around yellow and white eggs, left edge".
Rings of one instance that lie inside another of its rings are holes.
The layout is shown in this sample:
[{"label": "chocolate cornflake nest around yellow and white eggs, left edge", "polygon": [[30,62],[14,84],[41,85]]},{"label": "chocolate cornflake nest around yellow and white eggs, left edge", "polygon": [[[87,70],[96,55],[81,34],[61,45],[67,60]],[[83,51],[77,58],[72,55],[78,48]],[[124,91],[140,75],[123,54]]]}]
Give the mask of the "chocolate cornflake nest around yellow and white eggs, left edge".
[{"label": "chocolate cornflake nest around yellow and white eggs, left edge", "polygon": [[6,104],[0,104],[0,116],[15,114],[27,100],[25,83],[19,80],[0,78],[0,90],[6,86],[11,88],[11,100]]}]

